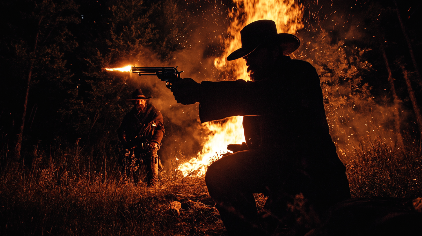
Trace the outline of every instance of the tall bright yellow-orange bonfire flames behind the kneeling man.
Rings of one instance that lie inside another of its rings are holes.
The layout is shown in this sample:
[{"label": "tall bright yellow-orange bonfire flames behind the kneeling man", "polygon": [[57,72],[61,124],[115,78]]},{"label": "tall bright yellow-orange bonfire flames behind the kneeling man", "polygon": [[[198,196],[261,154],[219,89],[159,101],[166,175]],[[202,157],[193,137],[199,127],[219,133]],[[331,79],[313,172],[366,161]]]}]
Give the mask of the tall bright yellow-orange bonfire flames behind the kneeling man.
[{"label": "tall bright yellow-orange bonfire flames behind the kneeling man", "polygon": [[[229,12],[229,17],[233,21],[227,32],[232,37],[225,40],[224,54],[214,60],[214,66],[219,70],[234,69],[237,79],[249,80],[243,60],[238,59],[230,63],[226,61],[231,52],[242,46],[240,31],[253,21],[270,19],[276,22],[279,33],[296,34],[303,28],[303,5],[296,4],[294,0],[233,0],[233,2],[239,10]],[[227,152],[228,144],[245,142],[242,120],[241,116],[235,116],[228,118],[225,123],[204,123],[211,134],[198,156],[179,166],[183,175],[205,174],[211,161],[221,158],[222,154]]]}]

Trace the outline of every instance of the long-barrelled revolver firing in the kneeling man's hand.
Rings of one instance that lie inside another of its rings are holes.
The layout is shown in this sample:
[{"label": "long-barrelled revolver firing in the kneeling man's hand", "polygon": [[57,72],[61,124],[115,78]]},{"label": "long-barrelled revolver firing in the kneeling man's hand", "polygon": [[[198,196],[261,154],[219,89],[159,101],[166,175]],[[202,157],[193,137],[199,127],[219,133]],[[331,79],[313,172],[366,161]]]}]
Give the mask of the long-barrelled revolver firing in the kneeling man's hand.
[{"label": "long-barrelled revolver firing in the kneeling man's hand", "polygon": [[171,84],[180,78],[180,73],[183,71],[178,71],[176,67],[132,67],[130,69],[132,73],[138,73],[139,76],[142,75],[156,75],[161,81],[165,81],[165,86],[171,88]]}]

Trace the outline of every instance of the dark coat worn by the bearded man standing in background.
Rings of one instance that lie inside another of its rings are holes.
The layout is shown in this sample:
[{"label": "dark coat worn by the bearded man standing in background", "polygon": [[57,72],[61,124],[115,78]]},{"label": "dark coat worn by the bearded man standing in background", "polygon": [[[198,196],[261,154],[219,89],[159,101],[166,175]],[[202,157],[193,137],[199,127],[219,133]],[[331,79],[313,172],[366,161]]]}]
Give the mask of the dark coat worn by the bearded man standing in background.
[{"label": "dark coat worn by the bearded man standing in background", "polygon": [[121,141],[125,138],[127,142],[134,142],[136,139],[160,144],[164,135],[163,123],[161,112],[153,105],[146,104],[143,113],[138,113],[135,109],[127,113],[117,132]]}]

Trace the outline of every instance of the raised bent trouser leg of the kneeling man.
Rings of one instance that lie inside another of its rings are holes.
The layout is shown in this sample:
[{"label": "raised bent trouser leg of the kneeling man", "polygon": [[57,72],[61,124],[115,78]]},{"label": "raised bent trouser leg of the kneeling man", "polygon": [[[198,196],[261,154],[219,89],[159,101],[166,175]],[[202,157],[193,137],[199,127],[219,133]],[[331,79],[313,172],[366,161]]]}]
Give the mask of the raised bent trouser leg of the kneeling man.
[{"label": "raised bent trouser leg of the kneeling man", "polygon": [[268,153],[247,150],[225,156],[208,167],[206,185],[230,236],[263,235],[253,193],[286,173]]}]

